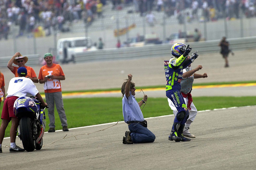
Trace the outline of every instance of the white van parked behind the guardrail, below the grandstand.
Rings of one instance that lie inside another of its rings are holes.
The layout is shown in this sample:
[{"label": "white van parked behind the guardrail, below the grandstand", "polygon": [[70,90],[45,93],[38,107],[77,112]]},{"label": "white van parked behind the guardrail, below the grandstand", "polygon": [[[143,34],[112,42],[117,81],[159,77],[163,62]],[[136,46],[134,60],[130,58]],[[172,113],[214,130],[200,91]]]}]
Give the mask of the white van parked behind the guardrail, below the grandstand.
[{"label": "white van parked behind the guardrail, below the grandstand", "polygon": [[90,37],[61,38],[57,43],[57,61],[75,63],[75,54],[97,50]]}]

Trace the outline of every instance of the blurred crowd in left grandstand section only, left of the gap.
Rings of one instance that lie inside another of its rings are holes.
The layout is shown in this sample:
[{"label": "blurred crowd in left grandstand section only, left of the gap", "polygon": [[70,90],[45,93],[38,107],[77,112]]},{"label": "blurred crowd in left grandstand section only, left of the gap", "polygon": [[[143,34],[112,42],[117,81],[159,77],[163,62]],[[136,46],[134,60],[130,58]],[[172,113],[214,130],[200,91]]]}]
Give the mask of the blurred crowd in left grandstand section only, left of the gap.
[{"label": "blurred crowd in left grandstand section only, left of the gap", "polygon": [[95,17],[102,17],[106,0],[0,0],[0,39],[8,38],[12,24],[19,26],[19,35],[32,32],[36,25],[51,35],[51,27],[60,31],[66,21],[83,19],[91,23]]}]

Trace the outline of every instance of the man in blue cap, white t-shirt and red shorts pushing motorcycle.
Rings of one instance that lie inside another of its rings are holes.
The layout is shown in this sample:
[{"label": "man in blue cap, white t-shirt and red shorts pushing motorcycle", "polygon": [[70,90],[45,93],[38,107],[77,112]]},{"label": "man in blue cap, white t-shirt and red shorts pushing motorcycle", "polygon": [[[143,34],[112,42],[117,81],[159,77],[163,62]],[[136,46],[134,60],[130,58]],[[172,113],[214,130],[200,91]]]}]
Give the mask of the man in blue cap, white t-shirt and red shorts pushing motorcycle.
[{"label": "man in blue cap, white t-shirt and red shorts pushing motorcycle", "polygon": [[33,81],[30,78],[26,78],[27,69],[25,67],[20,67],[18,69],[18,77],[12,78],[9,82],[9,87],[7,91],[6,99],[4,100],[3,111],[1,115],[2,123],[0,126],[0,153],[2,153],[2,142],[4,139],[5,129],[7,128],[10,121],[12,121],[12,126],[10,129],[10,152],[23,152],[24,149],[20,148],[16,145],[16,135],[17,128],[19,126],[19,120],[14,115],[13,112],[13,104],[16,99],[19,97],[25,97],[27,93],[36,96],[38,100],[42,103],[42,106],[48,106],[47,103],[44,102],[42,96],[36,89],[36,85],[34,85]]}]

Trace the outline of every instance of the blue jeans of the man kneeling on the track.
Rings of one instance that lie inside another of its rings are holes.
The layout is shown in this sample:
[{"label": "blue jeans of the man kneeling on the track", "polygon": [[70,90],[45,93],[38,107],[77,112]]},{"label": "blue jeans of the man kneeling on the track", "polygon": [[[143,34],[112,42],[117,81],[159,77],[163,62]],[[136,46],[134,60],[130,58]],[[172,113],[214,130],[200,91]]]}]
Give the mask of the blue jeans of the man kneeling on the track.
[{"label": "blue jeans of the man kneeling on the track", "polygon": [[131,123],[128,128],[131,132],[132,142],[135,144],[154,142],[156,139],[156,136],[140,123]]}]

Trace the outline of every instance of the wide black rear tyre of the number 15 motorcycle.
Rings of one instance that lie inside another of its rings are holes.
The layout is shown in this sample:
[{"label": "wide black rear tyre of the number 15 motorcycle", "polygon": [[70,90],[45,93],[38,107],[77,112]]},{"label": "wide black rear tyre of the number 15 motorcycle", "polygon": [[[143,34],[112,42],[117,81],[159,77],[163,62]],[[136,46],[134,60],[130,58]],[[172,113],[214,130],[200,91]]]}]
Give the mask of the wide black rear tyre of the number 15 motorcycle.
[{"label": "wide black rear tyre of the number 15 motorcycle", "polygon": [[33,140],[33,125],[29,117],[20,119],[20,138],[23,147],[26,151],[32,152],[35,150],[35,140]]}]

